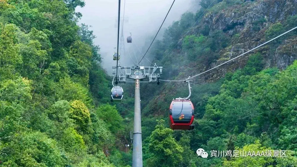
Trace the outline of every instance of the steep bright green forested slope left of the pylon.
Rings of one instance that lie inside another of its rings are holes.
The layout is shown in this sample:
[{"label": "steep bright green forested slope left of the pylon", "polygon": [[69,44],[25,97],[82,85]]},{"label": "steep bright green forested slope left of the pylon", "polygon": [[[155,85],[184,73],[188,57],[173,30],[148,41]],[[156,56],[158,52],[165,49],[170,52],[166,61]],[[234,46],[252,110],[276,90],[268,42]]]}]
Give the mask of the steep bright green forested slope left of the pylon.
[{"label": "steep bright green forested slope left of the pylon", "polygon": [[123,119],[83,5],[0,0],[0,166],[114,166]]}]

